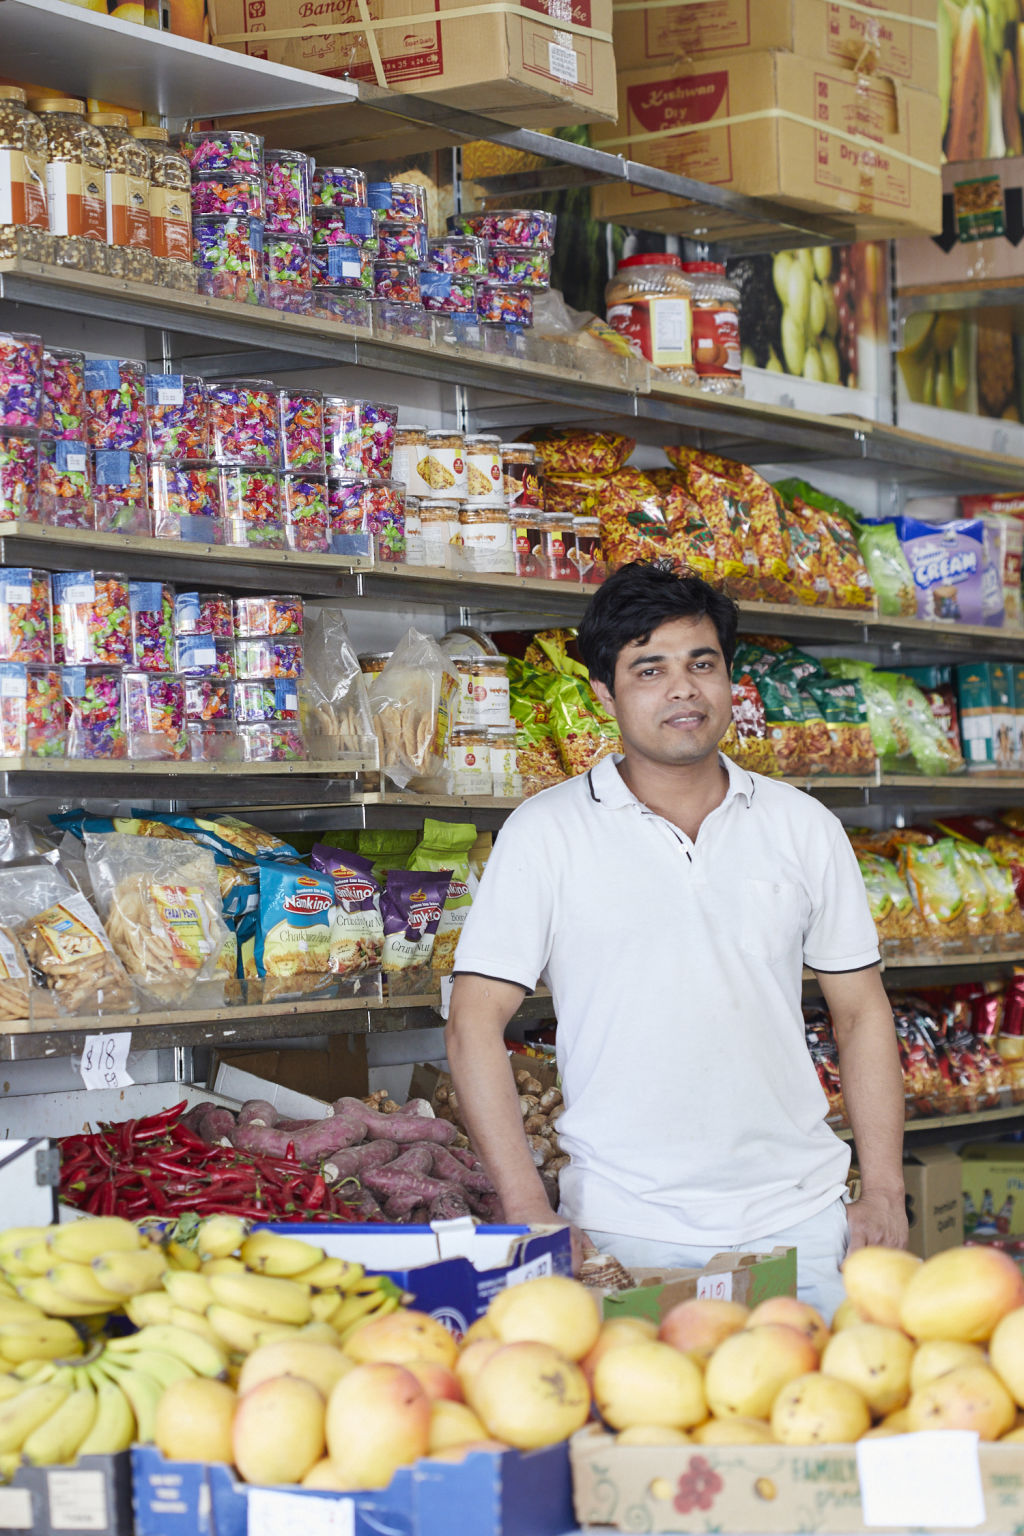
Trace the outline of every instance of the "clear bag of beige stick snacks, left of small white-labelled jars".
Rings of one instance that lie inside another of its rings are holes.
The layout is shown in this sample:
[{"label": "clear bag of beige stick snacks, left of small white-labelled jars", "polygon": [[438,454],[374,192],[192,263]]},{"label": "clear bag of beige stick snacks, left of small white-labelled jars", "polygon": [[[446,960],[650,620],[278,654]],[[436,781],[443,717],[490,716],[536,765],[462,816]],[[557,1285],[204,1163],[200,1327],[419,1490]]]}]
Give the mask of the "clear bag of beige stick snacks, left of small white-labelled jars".
[{"label": "clear bag of beige stick snacks, left of small white-labelled jars", "polygon": [[381,766],[404,790],[444,774],[459,676],[441,647],[408,630],[370,685]]}]

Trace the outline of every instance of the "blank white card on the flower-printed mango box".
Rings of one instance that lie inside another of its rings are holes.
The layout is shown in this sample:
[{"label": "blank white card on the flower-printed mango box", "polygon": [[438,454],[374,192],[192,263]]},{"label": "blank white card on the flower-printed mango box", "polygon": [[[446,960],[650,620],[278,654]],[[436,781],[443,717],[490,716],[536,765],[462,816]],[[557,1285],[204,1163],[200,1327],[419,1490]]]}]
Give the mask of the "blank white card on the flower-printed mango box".
[{"label": "blank white card on the flower-printed mango box", "polygon": [[858,1441],[857,1473],[864,1525],[890,1531],[984,1525],[978,1436],[970,1430]]}]

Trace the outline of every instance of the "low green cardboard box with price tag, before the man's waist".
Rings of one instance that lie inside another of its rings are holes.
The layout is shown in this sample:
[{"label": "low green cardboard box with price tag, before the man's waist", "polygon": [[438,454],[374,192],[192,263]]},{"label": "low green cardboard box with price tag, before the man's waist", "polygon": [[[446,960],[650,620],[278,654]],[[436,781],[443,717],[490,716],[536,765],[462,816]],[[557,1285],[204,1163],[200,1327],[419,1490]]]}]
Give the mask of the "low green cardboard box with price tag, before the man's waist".
[{"label": "low green cardboard box with price tag, before the man's waist", "polygon": [[636,1269],[636,1290],[605,1296],[606,1318],[662,1318],[694,1296],[740,1301],[755,1307],[768,1296],[797,1295],[797,1250],[778,1247],[771,1253],[715,1253],[703,1269]]}]

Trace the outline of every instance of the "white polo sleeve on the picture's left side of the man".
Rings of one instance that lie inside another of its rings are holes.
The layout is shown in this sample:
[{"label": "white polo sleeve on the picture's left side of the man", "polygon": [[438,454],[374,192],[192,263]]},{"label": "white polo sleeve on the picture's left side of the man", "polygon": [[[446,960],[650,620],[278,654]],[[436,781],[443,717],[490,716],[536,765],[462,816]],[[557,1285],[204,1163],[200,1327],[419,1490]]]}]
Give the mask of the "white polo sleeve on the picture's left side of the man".
[{"label": "white polo sleeve on the picture's left side of the man", "polygon": [[550,860],[534,829],[514,813],[487,860],[459,937],[454,972],[491,975],[533,992],[551,954],[553,926]]}]

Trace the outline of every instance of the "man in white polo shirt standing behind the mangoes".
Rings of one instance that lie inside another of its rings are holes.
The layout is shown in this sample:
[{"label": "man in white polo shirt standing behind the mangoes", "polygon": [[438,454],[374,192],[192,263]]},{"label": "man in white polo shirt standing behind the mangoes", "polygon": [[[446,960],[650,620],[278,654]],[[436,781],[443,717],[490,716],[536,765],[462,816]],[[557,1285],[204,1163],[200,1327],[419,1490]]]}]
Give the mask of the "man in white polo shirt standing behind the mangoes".
[{"label": "man in white polo shirt standing behind the mangoes", "polygon": [[[875,928],[841,823],[718,754],[737,610],[697,578],[628,565],[579,647],[622,757],[522,805],[497,836],[456,955],[448,1060],[510,1221],[551,1210],[504,1031],[551,988],[565,1112],[562,1215],[626,1266],[794,1243],[827,1315],[847,1244],[906,1244],[903,1077]],[[832,1012],[863,1193],[800,1012]]]}]

